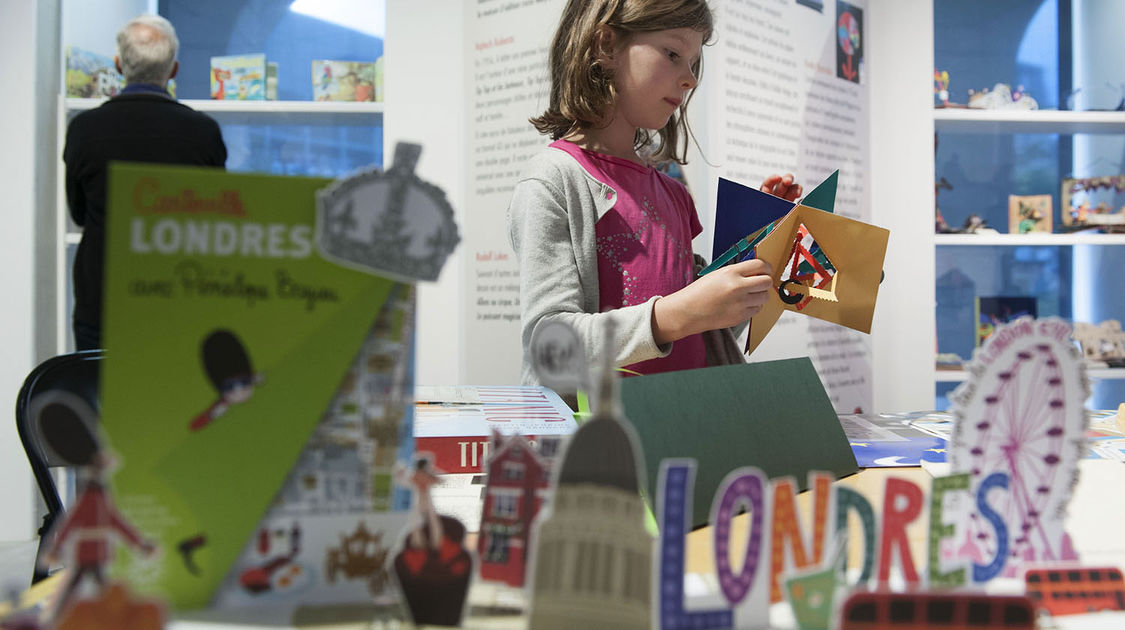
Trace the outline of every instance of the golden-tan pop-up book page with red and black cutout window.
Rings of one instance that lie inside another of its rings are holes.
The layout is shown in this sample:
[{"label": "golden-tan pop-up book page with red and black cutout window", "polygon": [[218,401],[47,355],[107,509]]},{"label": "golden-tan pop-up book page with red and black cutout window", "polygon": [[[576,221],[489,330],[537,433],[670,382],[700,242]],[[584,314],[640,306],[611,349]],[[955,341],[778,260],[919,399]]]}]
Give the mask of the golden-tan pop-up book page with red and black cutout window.
[{"label": "golden-tan pop-up book page with red and black cutout window", "polygon": [[752,352],[783,310],[868,333],[890,232],[808,206],[796,206],[758,243],[773,266],[773,289],[750,321]]}]

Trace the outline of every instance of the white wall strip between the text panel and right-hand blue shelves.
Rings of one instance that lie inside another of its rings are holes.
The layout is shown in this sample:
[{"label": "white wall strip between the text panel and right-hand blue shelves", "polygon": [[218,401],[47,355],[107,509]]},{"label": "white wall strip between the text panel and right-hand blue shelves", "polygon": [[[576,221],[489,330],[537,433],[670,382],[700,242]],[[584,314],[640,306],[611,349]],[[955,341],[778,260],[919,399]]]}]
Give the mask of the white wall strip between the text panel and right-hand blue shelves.
[{"label": "white wall strip between the text panel and right-hand blue shelves", "polygon": [[872,223],[891,231],[872,322],[875,410],[934,406],[934,7],[867,11]]}]

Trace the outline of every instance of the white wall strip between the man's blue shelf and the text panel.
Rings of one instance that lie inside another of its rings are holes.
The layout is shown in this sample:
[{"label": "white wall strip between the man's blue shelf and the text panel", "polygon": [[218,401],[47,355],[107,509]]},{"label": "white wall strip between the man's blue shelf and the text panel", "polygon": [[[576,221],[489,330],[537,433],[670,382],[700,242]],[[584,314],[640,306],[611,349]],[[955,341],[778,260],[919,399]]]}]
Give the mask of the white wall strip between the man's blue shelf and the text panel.
[{"label": "white wall strip between the man's blue shelf and the text panel", "polygon": [[[464,4],[447,0],[387,0],[384,40],[384,155],[399,141],[422,144],[415,171],[446,191],[457,223],[469,217],[464,195],[465,116]],[[420,16],[424,16],[421,19]],[[458,248],[438,282],[418,286],[416,382],[464,380],[461,278],[465,248]]]}]

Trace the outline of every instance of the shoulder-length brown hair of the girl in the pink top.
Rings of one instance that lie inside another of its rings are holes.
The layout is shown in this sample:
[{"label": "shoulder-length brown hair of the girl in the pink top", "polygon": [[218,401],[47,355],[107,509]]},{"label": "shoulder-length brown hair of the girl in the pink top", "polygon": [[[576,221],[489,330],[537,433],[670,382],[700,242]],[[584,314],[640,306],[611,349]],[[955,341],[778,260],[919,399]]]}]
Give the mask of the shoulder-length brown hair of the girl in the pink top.
[{"label": "shoulder-length brown hair of the girl in the pink top", "polygon": [[[612,28],[621,42],[634,33],[669,28],[691,28],[711,39],[713,22],[706,0],[568,0],[551,43],[548,65],[551,72],[550,105],[542,115],[531,118],[541,134],[558,140],[575,129],[588,129],[609,124],[606,112],[613,106],[616,91],[610,71],[597,63],[602,27]],[[703,60],[696,62],[695,78],[703,74]],[[687,104],[693,88],[668,124],[657,129],[659,145],[651,155],[654,162],[674,160],[686,163]],[[633,147],[652,143],[649,129],[637,129]]]}]

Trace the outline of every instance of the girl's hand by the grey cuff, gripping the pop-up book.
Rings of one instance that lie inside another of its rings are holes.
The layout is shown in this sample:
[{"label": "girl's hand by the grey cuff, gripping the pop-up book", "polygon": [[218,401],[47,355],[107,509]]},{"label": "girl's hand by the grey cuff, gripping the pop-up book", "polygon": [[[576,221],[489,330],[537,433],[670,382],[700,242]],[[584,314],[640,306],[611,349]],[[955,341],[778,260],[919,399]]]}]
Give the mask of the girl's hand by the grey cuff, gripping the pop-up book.
[{"label": "girl's hand by the grey cuff, gripping the pop-up book", "polygon": [[736,326],[758,314],[773,289],[764,260],[728,264],[662,297],[652,306],[652,336],[665,344],[687,335]]}]

